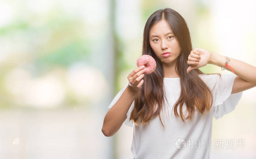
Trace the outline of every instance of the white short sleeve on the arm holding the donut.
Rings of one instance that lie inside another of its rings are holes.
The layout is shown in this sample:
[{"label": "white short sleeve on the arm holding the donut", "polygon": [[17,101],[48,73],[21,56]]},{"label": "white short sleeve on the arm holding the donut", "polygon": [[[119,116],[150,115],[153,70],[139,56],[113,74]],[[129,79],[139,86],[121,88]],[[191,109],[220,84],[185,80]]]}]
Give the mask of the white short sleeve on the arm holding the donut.
[{"label": "white short sleeve on the arm holding the donut", "polygon": [[[127,82],[126,86],[125,86],[124,88],[122,88],[122,89],[117,93],[117,95],[114,97],[114,99],[110,102],[108,108],[111,108],[111,107],[114,106],[114,104],[116,104],[117,100],[118,100],[118,99],[120,98],[120,96],[123,94],[123,92],[124,92],[125,88],[128,86],[128,84],[129,84],[129,82]],[[133,126],[134,126],[134,123],[132,122],[132,120],[129,121],[129,119],[130,119],[130,114],[131,114],[131,112],[132,112],[133,107],[134,107],[134,100],[133,100],[132,105],[131,105],[131,107],[129,108],[127,114],[126,114],[126,115],[127,115],[127,118],[126,118],[125,121],[124,121],[124,124],[127,125],[127,126],[129,126],[129,127],[133,127]]]}]

